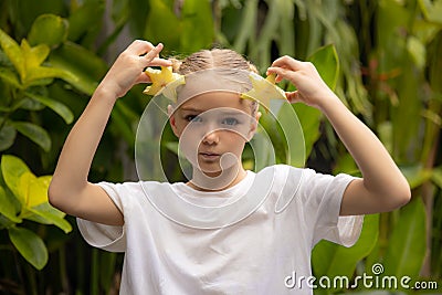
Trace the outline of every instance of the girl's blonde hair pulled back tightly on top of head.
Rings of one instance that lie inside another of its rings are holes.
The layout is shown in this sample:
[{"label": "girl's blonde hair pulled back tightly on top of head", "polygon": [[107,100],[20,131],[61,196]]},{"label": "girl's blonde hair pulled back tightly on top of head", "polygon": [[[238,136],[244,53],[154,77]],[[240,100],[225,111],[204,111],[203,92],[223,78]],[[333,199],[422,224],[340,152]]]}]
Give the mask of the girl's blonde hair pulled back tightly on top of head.
[{"label": "girl's blonde hair pulled back tightly on top of head", "polygon": [[[181,75],[211,69],[245,70],[259,74],[256,66],[238,52],[229,49],[197,51],[183,60],[169,59],[175,73]],[[257,110],[257,103],[251,102],[252,113]]]}]

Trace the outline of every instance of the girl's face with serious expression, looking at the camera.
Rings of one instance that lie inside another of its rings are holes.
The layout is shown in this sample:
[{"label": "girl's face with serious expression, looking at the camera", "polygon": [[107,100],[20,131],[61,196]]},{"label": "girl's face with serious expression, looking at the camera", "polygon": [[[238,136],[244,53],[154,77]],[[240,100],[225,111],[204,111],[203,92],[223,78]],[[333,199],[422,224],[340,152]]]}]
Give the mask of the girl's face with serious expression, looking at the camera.
[{"label": "girl's face with serious expression, looking at the camera", "polygon": [[181,104],[170,116],[170,124],[193,168],[214,177],[241,165],[244,145],[253,137],[259,116],[252,114],[251,102],[239,94],[211,92]]}]

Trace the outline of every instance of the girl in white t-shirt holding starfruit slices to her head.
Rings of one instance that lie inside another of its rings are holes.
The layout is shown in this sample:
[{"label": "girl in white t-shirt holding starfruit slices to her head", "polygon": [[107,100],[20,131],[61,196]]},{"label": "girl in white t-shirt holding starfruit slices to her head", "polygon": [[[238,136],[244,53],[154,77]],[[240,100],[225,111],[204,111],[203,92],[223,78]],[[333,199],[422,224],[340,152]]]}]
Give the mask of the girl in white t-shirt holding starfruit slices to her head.
[{"label": "girl in white t-shirt holding starfruit slices to her head", "polygon": [[[161,50],[135,41],[118,56],[69,135],[49,190],[54,207],[78,218],[90,244],[125,252],[122,294],[312,294],[307,285],[287,287],[286,278],[312,274],[311,251],[319,240],[349,246],[364,214],[409,201],[409,186],[378,138],[311,63],[290,56],[274,61],[267,74],[296,86],[285,94],[291,103],[323,112],[362,178],[285,165],[245,170],[241,154],[260,113],[240,98],[243,89],[224,85],[223,73],[255,70],[230,50],[201,51],[176,64],[189,77],[169,107],[172,130],[192,164],[187,183],[88,182],[116,99],[149,82],[146,66],[172,65],[159,57]],[[215,78],[204,80],[206,73]],[[275,210],[281,200],[283,210]]]}]

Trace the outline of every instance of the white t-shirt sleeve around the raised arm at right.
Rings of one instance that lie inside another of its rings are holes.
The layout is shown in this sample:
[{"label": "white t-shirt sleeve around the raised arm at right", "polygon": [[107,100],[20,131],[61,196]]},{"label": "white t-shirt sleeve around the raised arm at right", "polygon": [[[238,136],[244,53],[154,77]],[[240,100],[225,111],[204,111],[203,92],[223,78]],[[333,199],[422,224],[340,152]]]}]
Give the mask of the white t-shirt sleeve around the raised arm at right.
[{"label": "white t-shirt sleeve around the raised arm at right", "polygon": [[307,226],[313,231],[312,245],[324,239],[351,246],[359,239],[364,215],[339,215],[344,191],[354,179],[345,173],[330,176],[304,170],[299,193]]}]

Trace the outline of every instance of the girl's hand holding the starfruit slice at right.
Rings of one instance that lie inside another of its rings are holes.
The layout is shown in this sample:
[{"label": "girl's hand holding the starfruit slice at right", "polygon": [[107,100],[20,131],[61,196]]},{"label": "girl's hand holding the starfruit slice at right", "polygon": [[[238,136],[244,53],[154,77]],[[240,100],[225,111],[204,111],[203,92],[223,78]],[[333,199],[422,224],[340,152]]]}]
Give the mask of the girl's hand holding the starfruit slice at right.
[{"label": "girl's hand holding the starfruit slice at right", "polygon": [[297,91],[286,92],[291,103],[302,102],[320,109],[327,97],[336,97],[313,63],[301,62],[285,55],[275,60],[267,69],[267,75],[272,73],[276,74],[276,82],[285,78],[296,86]]}]

